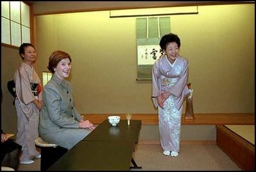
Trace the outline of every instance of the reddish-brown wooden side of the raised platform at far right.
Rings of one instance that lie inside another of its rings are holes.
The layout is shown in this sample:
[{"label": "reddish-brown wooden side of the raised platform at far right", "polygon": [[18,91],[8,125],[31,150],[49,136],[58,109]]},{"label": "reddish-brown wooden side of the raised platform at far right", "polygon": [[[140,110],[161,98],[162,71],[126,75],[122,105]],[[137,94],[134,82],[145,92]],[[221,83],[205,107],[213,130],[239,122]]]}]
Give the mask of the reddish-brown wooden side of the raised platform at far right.
[{"label": "reddish-brown wooden side of the raised platform at far right", "polygon": [[[216,125],[216,143],[243,170],[255,170],[255,146],[225,125]],[[254,131],[252,133],[254,135]]]}]

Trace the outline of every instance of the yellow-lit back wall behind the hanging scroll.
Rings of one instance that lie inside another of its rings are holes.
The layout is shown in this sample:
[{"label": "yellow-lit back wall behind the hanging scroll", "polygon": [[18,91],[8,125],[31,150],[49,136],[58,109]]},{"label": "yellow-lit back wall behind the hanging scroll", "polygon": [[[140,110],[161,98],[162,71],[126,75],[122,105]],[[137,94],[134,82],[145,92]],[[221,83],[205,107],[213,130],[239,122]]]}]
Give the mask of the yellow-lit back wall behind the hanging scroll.
[{"label": "yellow-lit back wall behind the hanging scroll", "polygon": [[[171,16],[180,54],[189,60],[195,113],[254,112],[254,4],[198,6],[198,15]],[[72,57],[81,113],[156,113],[151,82],[136,81],[135,18],[108,11],[36,18],[38,69],[63,50]]]}]

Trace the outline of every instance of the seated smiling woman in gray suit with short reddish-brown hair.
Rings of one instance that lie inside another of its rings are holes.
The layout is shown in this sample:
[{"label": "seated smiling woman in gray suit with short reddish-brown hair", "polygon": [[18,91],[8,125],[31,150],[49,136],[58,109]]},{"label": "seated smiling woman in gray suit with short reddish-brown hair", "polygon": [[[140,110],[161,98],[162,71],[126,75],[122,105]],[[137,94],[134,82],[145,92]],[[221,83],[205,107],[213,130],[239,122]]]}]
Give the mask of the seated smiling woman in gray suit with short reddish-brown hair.
[{"label": "seated smiling woman in gray suit with short reddish-brown hair", "polygon": [[69,150],[95,127],[74,107],[71,83],[65,80],[70,74],[70,55],[52,52],[47,68],[53,75],[44,87],[39,133],[43,140]]}]

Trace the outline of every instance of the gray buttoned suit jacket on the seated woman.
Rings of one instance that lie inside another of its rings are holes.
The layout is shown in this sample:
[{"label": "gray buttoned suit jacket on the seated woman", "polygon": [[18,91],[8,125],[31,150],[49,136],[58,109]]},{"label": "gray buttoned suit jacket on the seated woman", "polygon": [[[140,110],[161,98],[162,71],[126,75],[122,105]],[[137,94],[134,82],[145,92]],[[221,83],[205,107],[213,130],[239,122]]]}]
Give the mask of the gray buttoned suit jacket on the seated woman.
[{"label": "gray buttoned suit jacket on the seated woman", "polygon": [[67,128],[78,128],[83,119],[74,107],[71,83],[61,81],[52,75],[45,85],[44,103],[40,114],[39,132],[49,134],[61,132]]}]

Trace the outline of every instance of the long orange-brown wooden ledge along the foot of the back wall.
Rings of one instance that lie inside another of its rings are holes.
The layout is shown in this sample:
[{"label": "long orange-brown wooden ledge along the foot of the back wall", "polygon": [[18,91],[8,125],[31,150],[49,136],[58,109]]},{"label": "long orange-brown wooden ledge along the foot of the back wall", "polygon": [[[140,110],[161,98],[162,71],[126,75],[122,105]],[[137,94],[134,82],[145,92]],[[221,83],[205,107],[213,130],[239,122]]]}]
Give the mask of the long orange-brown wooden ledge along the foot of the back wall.
[{"label": "long orange-brown wooden ledge along the foot of the back wall", "polygon": [[[82,114],[93,124],[100,124],[110,114]],[[125,119],[125,114],[120,115]],[[254,113],[195,113],[194,120],[185,120],[182,114],[183,125],[253,125]],[[157,114],[132,114],[133,120],[141,120],[142,124],[158,124]]]}]

